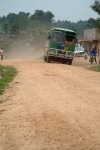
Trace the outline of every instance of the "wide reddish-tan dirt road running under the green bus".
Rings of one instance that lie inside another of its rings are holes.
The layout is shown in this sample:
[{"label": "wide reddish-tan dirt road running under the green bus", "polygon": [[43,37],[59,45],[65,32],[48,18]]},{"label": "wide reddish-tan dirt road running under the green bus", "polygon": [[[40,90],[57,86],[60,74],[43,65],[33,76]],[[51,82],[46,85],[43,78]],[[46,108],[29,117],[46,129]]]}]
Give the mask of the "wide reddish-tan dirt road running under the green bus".
[{"label": "wide reddish-tan dirt road running under the green bus", "polygon": [[88,61],[2,64],[19,74],[0,96],[0,150],[100,150],[100,73]]}]

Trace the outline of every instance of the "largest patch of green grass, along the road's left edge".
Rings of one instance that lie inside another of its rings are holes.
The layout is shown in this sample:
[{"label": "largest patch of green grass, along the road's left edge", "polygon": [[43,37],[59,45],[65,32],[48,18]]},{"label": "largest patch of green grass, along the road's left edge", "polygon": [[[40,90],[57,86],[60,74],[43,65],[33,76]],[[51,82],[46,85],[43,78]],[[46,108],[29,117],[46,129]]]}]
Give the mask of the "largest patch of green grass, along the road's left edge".
[{"label": "largest patch of green grass, along the road's left edge", "polygon": [[8,86],[8,83],[11,82],[14,77],[17,75],[17,69],[13,66],[2,66],[0,65],[0,72],[3,73],[0,78],[0,95],[3,94],[5,88]]}]

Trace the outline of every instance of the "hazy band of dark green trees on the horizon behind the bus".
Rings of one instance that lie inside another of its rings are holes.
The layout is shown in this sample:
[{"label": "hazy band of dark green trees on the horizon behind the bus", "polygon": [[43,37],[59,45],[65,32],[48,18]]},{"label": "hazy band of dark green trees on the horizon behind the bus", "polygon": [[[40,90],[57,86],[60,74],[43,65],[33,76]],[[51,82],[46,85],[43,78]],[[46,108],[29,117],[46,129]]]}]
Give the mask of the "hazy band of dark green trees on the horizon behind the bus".
[{"label": "hazy band of dark green trees on the horizon behind the bus", "polygon": [[84,29],[96,27],[92,21],[93,18],[74,23],[67,21],[67,18],[65,21],[55,21],[54,17],[52,12],[44,12],[43,10],[35,10],[32,15],[25,12],[19,12],[19,14],[9,13],[7,16],[0,17],[0,33],[18,34],[19,30],[32,33],[33,28],[39,28],[40,32],[45,33],[51,27],[63,27],[72,30],[76,29],[78,35],[83,35]]}]

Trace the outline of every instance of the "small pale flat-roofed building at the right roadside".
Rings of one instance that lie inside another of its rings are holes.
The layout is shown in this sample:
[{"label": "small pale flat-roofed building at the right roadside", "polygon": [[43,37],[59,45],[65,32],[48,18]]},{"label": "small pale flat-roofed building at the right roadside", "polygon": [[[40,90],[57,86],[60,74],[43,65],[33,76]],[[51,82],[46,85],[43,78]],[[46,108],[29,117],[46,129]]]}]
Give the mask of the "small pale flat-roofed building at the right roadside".
[{"label": "small pale flat-roofed building at the right roadside", "polygon": [[84,36],[78,36],[78,43],[88,51],[93,47],[100,51],[100,31],[97,28],[84,30]]}]

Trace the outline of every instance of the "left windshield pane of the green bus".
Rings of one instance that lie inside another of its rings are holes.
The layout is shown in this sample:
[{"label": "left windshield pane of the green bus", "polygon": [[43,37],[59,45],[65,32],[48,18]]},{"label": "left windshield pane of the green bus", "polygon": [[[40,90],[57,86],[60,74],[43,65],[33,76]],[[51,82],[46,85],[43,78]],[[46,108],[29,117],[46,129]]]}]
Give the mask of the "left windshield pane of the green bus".
[{"label": "left windshield pane of the green bus", "polygon": [[52,41],[56,43],[64,43],[64,35],[61,33],[54,33]]}]

